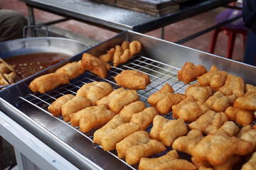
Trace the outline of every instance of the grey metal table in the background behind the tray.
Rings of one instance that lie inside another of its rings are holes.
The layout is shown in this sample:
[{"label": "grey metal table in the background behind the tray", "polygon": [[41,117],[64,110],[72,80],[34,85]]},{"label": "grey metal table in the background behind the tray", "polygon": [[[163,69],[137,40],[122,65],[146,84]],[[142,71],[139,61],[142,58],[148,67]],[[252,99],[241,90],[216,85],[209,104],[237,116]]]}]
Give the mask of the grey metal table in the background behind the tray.
[{"label": "grey metal table in the background behind the tray", "polygon": [[[58,14],[66,19],[75,19],[93,26],[99,26],[108,30],[122,32],[123,30],[134,30],[146,33],[156,28],[163,28],[171,23],[195,16],[199,13],[210,11],[213,8],[227,6],[236,0],[193,0],[180,4],[180,10],[165,16],[150,16],[144,13],[100,4],[87,0],[19,0],[26,3],[29,11],[29,21],[35,24],[33,8]],[[58,21],[50,22],[56,23]],[[48,23],[49,24],[49,23]]]}]

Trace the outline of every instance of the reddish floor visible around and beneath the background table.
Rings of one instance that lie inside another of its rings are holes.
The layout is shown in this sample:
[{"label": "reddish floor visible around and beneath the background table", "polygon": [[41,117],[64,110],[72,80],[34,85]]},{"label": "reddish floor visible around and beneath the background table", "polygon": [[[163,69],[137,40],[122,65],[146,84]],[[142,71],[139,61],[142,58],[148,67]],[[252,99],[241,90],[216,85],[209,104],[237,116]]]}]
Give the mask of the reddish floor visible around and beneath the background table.
[{"label": "reddish floor visible around and beneath the background table", "polygon": [[[15,11],[20,11],[23,15],[28,16],[28,8],[26,5],[18,0],[0,0],[0,7],[6,9],[12,9]],[[206,29],[210,26],[215,25],[215,16],[218,15],[221,11],[225,10],[225,8],[215,8],[212,11],[208,11],[206,13],[193,16],[183,21],[179,21],[177,23],[173,23],[164,28],[164,40],[168,40],[170,42],[176,42],[177,40],[181,40],[188,35],[192,35],[193,33],[197,33],[199,30]],[[56,16],[51,13],[46,13],[44,11],[40,11],[35,9],[34,11],[36,16],[36,23],[44,23],[47,21],[52,21],[54,19],[61,18],[60,16]],[[87,42],[89,45],[95,45],[98,42],[102,42],[104,40],[108,40],[112,38],[117,33],[114,33],[110,30],[104,30],[102,28],[97,28],[95,26],[90,26],[86,23],[81,23],[79,21],[65,21],[63,23],[55,24],[54,29],[65,35],[68,38],[78,39],[84,42]],[[52,28],[53,28],[52,27]],[[161,30],[153,30],[146,35],[151,35],[156,38],[160,38]],[[197,50],[201,50],[204,52],[208,52],[210,47],[212,32],[201,35],[198,38],[190,40],[188,42],[183,43],[187,47],[191,47]],[[218,42],[215,48],[215,55],[219,55],[221,57],[226,56],[226,50],[228,45],[228,35],[224,32],[220,33],[218,36]],[[242,35],[238,35],[235,40],[235,50],[233,52],[233,60],[242,61],[243,57],[243,41]]]}]

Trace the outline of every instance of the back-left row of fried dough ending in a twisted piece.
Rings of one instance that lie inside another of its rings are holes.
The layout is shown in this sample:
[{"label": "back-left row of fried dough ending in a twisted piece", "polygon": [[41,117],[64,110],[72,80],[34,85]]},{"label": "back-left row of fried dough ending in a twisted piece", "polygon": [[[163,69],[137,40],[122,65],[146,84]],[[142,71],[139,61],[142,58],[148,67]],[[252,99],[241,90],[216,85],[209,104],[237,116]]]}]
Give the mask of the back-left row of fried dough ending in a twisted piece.
[{"label": "back-left row of fried dough ending in a twisted piece", "polygon": [[60,67],[55,72],[37,77],[29,84],[29,89],[33,92],[39,91],[41,94],[55,89],[61,84],[68,84],[71,79],[75,79],[86,70],[96,74],[102,79],[107,78],[107,72],[111,69],[108,62],[113,62],[114,67],[118,64],[127,62],[132,56],[142,50],[142,44],[134,40],[132,42],[124,41],[122,45],[116,45],[107,51],[106,54],[95,57],[87,52],[83,53],[82,60],[70,62]]}]

